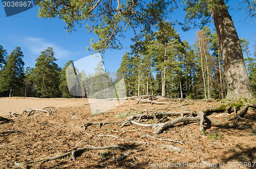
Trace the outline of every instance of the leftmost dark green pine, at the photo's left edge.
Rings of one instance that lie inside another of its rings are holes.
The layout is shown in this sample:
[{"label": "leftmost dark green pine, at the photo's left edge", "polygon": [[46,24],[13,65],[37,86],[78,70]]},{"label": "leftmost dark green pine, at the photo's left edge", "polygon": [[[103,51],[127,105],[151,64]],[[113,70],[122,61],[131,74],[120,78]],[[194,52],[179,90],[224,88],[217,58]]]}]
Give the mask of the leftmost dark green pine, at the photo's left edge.
[{"label": "leftmost dark green pine, at the photo's left edge", "polygon": [[24,57],[20,47],[6,58],[7,63],[0,74],[0,92],[9,91],[9,96],[22,95],[22,86],[24,80]]}]

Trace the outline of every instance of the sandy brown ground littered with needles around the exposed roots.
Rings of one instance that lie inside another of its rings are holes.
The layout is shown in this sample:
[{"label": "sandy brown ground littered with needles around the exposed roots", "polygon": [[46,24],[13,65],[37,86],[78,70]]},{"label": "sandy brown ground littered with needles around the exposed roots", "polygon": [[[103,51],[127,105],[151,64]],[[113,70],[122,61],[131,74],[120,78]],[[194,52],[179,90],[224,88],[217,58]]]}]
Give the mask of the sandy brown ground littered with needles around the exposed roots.
[{"label": "sandy brown ground littered with needles around the exposed roots", "polygon": [[[208,117],[211,117],[212,126],[205,130],[205,135],[199,132],[199,122],[179,123],[160,134],[154,134],[150,127],[133,124],[126,124],[123,128],[120,128],[121,124],[105,124],[101,128],[91,125],[85,131],[83,129],[82,125],[88,122],[123,121],[129,116],[144,113],[145,109],[148,113],[153,108],[166,112],[198,112],[223,103],[216,100],[157,101],[167,104],[135,104],[136,100],[126,100],[108,112],[93,115],[87,99],[0,98],[0,116],[13,119],[9,123],[0,122],[0,132],[21,131],[0,135],[0,168],[256,167],[256,110],[252,109],[247,111],[244,117],[246,121],[238,123],[227,120],[234,113],[210,114]],[[30,116],[23,114],[23,109],[43,109],[48,106],[54,107],[50,115],[41,111],[35,111]],[[8,111],[23,115],[10,117]],[[162,123],[175,118],[141,119],[140,123]],[[77,153],[75,161],[67,156],[15,165],[15,162],[55,157],[91,146],[119,146],[126,149],[88,150]]]}]

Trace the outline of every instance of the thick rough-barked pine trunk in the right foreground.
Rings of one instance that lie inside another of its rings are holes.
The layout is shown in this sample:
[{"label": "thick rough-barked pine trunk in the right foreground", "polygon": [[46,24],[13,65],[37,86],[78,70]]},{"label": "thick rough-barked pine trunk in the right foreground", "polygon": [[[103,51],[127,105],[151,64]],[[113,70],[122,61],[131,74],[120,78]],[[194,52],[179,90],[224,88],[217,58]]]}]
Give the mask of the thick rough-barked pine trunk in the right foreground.
[{"label": "thick rough-barked pine trunk in the right foreground", "polygon": [[244,64],[242,47],[231,16],[224,0],[211,0],[211,2],[218,7],[210,9],[210,13],[219,37],[226,71],[228,87],[226,99],[253,98],[249,76]]}]

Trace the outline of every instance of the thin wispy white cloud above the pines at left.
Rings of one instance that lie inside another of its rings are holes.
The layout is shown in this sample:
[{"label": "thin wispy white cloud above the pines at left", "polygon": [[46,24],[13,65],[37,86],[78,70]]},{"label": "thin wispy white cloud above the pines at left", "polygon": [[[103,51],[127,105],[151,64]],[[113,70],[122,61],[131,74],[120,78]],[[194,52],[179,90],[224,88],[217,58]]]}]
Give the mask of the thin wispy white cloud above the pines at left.
[{"label": "thin wispy white cloud above the pines at left", "polygon": [[39,56],[42,51],[47,49],[47,47],[52,47],[54,57],[56,59],[71,58],[74,56],[74,53],[71,51],[68,51],[54,43],[47,42],[41,38],[27,37],[24,39],[23,43],[28,47],[29,52],[33,55]]}]

